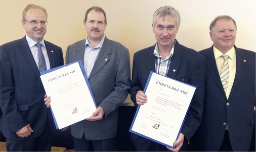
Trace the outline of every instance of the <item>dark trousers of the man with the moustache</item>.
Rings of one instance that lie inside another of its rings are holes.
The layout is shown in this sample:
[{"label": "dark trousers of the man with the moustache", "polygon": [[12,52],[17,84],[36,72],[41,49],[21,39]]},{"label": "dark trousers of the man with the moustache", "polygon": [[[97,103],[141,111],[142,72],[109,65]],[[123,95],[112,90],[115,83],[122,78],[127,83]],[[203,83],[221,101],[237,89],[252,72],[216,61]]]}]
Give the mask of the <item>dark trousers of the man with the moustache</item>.
[{"label": "dark trousers of the man with the moustache", "polygon": [[75,151],[114,151],[115,137],[104,140],[87,140],[73,137]]}]

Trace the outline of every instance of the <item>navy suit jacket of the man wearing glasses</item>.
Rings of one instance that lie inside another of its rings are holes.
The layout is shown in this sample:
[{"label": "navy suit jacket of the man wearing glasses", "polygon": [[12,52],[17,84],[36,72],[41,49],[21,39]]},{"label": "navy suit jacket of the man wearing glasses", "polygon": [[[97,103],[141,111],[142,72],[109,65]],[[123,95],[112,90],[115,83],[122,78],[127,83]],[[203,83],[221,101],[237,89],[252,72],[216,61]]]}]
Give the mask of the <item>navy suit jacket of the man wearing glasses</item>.
[{"label": "navy suit jacket of the man wearing glasses", "polygon": [[[45,44],[51,68],[63,65],[62,49],[48,41]],[[26,38],[0,46],[0,129],[6,138],[35,138],[44,131],[48,121],[45,94]],[[27,124],[34,132],[27,138],[18,137],[15,132]]]}]

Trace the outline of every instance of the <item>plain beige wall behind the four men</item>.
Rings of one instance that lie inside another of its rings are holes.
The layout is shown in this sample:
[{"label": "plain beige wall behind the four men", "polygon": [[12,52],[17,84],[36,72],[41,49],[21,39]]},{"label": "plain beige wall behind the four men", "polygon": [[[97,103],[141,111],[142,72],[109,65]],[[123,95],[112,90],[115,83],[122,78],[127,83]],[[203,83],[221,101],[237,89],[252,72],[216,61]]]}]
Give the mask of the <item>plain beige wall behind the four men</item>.
[{"label": "plain beige wall behind the four men", "polygon": [[176,8],[181,15],[178,41],[196,50],[209,47],[209,24],[218,15],[230,15],[237,21],[238,47],[256,51],[256,9],[254,0],[0,0],[0,45],[25,35],[22,11],[27,4],[45,7],[48,27],[45,39],[62,47],[64,56],[69,44],[87,36],[83,28],[86,10],[100,6],[107,13],[108,38],[121,42],[133,54],[155,43],[152,15],[165,5]]}]

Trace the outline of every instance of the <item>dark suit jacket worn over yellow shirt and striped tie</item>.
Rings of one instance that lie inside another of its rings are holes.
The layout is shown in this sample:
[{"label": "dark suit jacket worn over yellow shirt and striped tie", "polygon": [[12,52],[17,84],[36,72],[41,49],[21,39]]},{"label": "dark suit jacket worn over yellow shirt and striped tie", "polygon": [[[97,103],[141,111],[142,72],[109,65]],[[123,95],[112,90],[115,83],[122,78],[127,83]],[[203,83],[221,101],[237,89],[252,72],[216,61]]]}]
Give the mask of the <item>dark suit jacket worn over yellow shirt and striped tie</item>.
[{"label": "dark suit jacket worn over yellow shirt and striped tie", "polygon": [[206,63],[203,118],[194,141],[200,150],[220,149],[226,128],[223,123],[228,123],[234,151],[247,151],[250,146],[255,123],[255,53],[235,49],[236,75],[228,99],[218,73],[213,46],[200,52]]}]

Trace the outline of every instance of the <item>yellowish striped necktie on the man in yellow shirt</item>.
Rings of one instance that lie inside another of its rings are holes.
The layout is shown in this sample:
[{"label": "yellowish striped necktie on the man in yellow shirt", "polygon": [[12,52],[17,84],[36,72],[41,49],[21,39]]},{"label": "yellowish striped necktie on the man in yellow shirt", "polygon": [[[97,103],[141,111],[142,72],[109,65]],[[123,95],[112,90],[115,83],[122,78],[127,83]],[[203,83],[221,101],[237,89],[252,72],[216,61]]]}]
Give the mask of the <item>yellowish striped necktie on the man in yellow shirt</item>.
[{"label": "yellowish striped necktie on the man in yellow shirt", "polygon": [[222,63],[221,66],[221,81],[222,81],[222,85],[224,88],[224,91],[227,92],[227,88],[228,88],[228,79],[229,79],[229,64],[228,64],[228,55],[222,55],[221,56],[224,61]]}]

